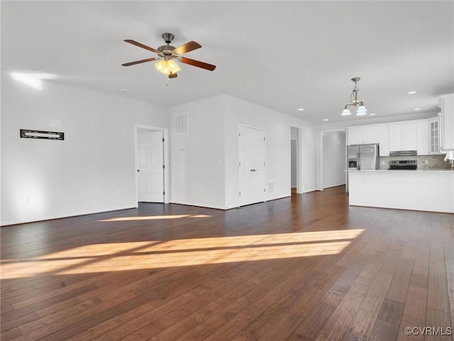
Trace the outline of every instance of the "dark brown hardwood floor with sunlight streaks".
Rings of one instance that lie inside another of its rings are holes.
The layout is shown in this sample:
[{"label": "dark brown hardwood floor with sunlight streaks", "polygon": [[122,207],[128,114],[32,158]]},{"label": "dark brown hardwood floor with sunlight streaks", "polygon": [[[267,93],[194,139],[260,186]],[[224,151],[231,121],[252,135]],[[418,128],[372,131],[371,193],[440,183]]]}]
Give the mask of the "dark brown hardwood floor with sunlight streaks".
[{"label": "dark brown hardwood floor with sunlight streaks", "polygon": [[1,341],[452,341],[453,225],[338,187],[2,227]]}]

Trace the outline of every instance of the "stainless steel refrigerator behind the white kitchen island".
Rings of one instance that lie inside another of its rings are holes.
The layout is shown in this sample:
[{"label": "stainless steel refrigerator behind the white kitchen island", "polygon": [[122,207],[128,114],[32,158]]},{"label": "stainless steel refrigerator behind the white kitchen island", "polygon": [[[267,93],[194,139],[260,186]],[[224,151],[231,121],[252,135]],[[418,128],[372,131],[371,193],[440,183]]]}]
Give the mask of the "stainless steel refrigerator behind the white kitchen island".
[{"label": "stainless steel refrigerator behind the white kitchen island", "polygon": [[[348,171],[365,171],[380,168],[378,144],[350,144],[347,146]],[[346,191],[348,192],[348,174]]]}]

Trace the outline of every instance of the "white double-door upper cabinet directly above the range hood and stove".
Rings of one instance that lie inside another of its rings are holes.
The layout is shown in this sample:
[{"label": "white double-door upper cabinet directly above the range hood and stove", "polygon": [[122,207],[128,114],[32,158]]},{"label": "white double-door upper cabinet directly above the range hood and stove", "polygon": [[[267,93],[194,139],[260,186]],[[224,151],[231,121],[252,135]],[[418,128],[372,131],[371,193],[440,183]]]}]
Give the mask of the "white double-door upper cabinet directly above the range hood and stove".
[{"label": "white double-door upper cabinet directly above the range hood and stove", "polygon": [[418,149],[417,124],[408,121],[389,124],[390,151],[416,151]]}]

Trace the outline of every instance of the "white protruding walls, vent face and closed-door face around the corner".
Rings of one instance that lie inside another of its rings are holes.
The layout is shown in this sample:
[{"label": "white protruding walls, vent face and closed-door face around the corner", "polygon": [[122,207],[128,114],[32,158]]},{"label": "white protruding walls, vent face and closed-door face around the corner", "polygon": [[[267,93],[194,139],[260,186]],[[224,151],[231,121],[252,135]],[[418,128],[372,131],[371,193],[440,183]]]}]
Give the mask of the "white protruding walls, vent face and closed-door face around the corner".
[{"label": "white protruding walls, vent face and closed-door face around the corner", "polygon": [[[171,201],[215,208],[238,207],[238,125],[265,129],[267,200],[290,195],[290,127],[302,130],[304,191],[315,189],[314,125],[226,94],[180,104],[175,114],[189,114],[189,134],[170,129]],[[270,186],[269,186],[270,188]]]}]

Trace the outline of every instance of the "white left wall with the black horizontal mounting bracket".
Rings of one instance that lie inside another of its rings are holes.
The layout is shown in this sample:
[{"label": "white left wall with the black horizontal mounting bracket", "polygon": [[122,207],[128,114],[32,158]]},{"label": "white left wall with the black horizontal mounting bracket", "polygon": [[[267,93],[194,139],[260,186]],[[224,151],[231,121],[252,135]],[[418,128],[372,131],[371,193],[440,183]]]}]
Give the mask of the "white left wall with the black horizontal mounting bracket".
[{"label": "white left wall with the black horizontal mounting bracket", "polygon": [[[35,90],[5,74],[1,82],[1,224],[137,205],[134,124],[167,127],[165,107],[50,81]],[[19,129],[65,140],[20,139]]]}]

